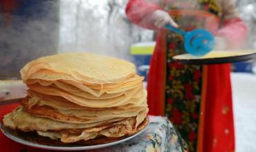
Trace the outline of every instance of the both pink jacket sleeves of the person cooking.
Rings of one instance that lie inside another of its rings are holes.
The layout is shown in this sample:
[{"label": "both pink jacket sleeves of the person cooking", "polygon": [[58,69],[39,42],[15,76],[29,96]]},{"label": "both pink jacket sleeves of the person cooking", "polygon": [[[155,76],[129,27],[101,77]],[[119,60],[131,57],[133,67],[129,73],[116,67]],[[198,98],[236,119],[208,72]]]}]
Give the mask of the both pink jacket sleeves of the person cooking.
[{"label": "both pink jacket sleeves of the person cooking", "polygon": [[[226,38],[228,46],[231,46],[230,49],[237,49],[244,44],[247,27],[239,18],[237,8],[235,8],[232,0],[218,0],[218,3],[223,14],[221,14],[221,28],[216,35]],[[162,10],[162,8],[157,3],[150,2],[149,0],[130,0],[127,4],[126,14],[130,21],[140,27],[156,30],[156,27],[150,20],[150,15],[155,10]]]}]

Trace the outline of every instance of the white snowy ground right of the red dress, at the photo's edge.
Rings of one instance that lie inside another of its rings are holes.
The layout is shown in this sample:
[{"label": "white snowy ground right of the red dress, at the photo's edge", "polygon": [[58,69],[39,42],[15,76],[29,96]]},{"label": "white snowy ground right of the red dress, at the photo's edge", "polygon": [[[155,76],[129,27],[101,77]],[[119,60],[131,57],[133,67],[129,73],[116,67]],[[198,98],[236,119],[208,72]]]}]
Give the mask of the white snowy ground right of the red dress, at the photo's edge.
[{"label": "white snowy ground right of the red dress, at the photo's edge", "polygon": [[233,73],[236,152],[256,151],[256,75]]}]

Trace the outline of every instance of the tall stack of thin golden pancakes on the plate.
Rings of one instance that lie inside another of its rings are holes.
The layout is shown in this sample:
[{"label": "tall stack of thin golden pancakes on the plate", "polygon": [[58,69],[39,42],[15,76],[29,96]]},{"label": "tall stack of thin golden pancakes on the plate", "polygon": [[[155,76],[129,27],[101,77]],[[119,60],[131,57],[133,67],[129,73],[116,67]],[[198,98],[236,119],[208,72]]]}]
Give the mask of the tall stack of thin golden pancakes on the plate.
[{"label": "tall stack of thin golden pancakes on the plate", "polygon": [[31,61],[21,69],[21,78],[28,96],[3,118],[10,129],[73,143],[119,139],[147,126],[143,77],[127,61],[57,54]]}]

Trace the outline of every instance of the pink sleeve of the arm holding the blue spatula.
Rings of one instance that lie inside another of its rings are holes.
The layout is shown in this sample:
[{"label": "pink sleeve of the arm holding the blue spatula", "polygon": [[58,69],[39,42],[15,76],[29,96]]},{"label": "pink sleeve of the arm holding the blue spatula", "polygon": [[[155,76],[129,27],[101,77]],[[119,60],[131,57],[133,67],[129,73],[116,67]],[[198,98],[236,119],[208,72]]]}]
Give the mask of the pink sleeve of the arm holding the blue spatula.
[{"label": "pink sleeve of the arm holding the blue spatula", "polygon": [[155,30],[156,26],[150,17],[155,10],[161,10],[156,3],[145,0],[129,0],[125,12],[131,22],[140,27]]}]

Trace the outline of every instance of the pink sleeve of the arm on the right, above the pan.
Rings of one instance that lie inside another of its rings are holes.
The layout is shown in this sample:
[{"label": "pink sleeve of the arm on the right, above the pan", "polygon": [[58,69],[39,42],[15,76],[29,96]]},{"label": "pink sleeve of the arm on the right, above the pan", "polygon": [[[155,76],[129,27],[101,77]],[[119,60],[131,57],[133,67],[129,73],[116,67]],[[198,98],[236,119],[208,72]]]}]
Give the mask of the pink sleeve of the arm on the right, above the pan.
[{"label": "pink sleeve of the arm on the right, above the pan", "polygon": [[228,43],[228,49],[239,49],[244,45],[247,36],[247,26],[239,17],[233,0],[222,0],[222,23],[217,36],[222,36]]}]

